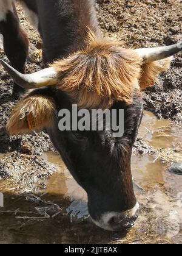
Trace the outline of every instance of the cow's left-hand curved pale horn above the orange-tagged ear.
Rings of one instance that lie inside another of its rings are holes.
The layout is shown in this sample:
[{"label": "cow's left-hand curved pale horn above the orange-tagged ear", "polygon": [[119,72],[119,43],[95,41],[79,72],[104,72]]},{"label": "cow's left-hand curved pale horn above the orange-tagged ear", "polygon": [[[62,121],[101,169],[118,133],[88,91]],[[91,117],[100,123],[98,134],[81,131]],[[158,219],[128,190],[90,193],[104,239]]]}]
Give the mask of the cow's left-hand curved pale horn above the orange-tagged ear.
[{"label": "cow's left-hand curved pale horn above the orange-tagged ear", "polygon": [[15,68],[0,60],[5,71],[12,77],[16,84],[25,89],[40,88],[55,85],[57,72],[55,68],[45,68],[33,74],[21,74]]}]

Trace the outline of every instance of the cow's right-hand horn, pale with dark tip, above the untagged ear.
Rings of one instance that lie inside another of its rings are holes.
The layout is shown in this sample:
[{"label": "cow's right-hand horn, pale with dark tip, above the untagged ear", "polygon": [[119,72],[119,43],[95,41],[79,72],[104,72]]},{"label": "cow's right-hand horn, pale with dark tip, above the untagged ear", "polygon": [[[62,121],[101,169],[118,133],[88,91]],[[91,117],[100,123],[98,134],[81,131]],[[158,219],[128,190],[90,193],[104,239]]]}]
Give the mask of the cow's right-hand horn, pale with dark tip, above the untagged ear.
[{"label": "cow's right-hand horn, pale with dark tip, above the untagged ear", "polygon": [[166,59],[182,51],[182,41],[170,46],[136,49],[135,51],[138,52],[140,57],[144,60],[144,63],[155,62],[157,60]]}]

